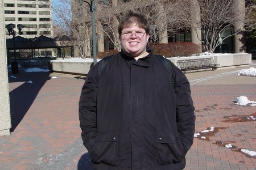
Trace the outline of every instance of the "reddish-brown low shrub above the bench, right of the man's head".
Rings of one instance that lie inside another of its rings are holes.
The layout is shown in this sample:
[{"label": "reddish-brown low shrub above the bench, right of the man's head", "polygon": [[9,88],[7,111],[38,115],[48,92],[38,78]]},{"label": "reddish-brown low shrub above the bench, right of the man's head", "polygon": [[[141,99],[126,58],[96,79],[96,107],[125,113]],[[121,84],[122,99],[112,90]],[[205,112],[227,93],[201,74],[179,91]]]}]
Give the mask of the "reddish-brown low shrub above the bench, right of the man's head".
[{"label": "reddish-brown low shrub above the bench, right of the man's head", "polygon": [[188,57],[200,53],[199,45],[192,42],[168,42],[168,44],[150,44],[154,54],[164,57]]}]

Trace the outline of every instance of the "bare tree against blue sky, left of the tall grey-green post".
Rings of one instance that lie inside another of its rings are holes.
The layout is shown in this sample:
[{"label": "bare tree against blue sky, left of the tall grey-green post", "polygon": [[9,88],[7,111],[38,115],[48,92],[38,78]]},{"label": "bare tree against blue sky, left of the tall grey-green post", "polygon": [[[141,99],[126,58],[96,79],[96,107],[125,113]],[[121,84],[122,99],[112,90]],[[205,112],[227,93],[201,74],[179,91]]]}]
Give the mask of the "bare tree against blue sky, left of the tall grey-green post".
[{"label": "bare tree against blue sky, left of the tall grey-green post", "polygon": [[85,8],[80,7],[79,2],[75,0],[55,1],[51,8],[55,15],[53,18],[55,26],[62,29],[58,36],[70,37],[69,43],[74,46],[75,50],[77,49],[80,57],[90,56],[90,46],[86,46],[90,41],[87,24],[90,20],[85,18]]}]

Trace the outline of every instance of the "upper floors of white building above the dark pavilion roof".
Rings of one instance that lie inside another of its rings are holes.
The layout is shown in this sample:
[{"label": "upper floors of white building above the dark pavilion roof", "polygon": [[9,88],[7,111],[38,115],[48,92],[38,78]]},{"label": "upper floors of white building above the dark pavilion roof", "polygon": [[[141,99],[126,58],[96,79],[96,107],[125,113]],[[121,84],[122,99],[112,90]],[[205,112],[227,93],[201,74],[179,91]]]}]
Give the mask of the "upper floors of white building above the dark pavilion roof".
[{"label": "upper floors of white building above the dark pavilion roof", "polygon": [[[22,37],[34,38],[40,35],[53,37],[51,0],[3,0],[6,25],[22,24]],[[9,32],[6,29],[6,37]]]}]

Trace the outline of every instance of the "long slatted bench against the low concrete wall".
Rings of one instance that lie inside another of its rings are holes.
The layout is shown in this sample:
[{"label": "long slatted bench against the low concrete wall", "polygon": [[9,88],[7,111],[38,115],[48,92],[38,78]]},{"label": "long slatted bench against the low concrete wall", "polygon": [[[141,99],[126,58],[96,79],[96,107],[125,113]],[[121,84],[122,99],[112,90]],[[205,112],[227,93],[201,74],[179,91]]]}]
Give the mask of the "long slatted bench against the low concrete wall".
[{"label": "long slatted bench against the low concrete wall", "polygon": [[199,69],[216,69],[220,64],[214,63],[213,58],[197,58],[197,59],[184,59],[178,60],[177,66],[181,71],[186,73],[186,70],[199,70]]}]

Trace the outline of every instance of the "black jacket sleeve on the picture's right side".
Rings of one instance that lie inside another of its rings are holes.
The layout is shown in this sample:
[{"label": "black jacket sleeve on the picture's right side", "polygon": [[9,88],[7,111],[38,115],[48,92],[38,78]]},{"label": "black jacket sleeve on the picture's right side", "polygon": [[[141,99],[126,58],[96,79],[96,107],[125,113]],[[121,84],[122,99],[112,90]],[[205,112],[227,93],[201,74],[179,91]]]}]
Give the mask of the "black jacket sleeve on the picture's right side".
[{"label": "black jacket sleeve on the picture's right side", "polygon": [[179,69],[175,69],[176,122],[181,141],[188,151],[193,144],[195,133],[195,108],[191,97],[187,77]]}]

